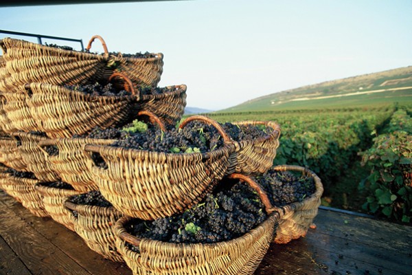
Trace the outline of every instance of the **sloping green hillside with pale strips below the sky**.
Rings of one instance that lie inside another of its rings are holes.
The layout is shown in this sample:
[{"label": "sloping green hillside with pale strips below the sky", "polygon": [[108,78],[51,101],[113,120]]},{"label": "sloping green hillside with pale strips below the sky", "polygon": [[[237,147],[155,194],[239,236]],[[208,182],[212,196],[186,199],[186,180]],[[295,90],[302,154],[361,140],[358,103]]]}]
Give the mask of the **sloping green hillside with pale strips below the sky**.
[{"label": "sloping green hillside with pale strips below the sky", "polygon": [[412,66],[280,91],[219,112],[345,107],[396,101],[412,101]]}]

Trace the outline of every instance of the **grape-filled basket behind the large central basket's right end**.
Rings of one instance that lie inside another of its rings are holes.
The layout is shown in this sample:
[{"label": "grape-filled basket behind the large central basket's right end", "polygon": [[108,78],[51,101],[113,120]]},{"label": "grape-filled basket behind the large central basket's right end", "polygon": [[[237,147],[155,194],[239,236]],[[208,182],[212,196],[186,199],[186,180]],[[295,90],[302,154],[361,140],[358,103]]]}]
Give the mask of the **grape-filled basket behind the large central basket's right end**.
[{"label": "grape-filled basket behind the large central basket's right end", "polygon": [[[182,124],[203,119],[193,115]],[[280,126],[271,121],[242,121],[222,124],[222,129],[236,145],[231,155],[231,173],[264,173],[273,166],[279,147]]]}]

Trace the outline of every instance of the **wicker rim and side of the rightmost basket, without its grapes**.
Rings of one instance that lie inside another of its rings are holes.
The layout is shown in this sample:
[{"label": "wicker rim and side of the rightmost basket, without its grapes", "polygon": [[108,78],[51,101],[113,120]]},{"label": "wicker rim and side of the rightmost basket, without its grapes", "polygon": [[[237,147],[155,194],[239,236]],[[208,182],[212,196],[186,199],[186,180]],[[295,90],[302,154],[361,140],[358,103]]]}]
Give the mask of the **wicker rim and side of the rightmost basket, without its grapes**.
[{"label": "wicker rim and side of the rightmost basket, without its grapes", "polygon": [[277,208],[277,211],[281,214],[281,219],[279,220],[279,227],[276,231],[275,243],[288,243],[293,239],[306,236],[321,205],[323,185],[321,179],[319,179],[315,173],[301,166],[281,165],[275,166],[273,169],[279,171],[297,171],[306,177],[312,177],[314,179],[316,190],[310,197],[300,202],[290,203],[280,209]]}]

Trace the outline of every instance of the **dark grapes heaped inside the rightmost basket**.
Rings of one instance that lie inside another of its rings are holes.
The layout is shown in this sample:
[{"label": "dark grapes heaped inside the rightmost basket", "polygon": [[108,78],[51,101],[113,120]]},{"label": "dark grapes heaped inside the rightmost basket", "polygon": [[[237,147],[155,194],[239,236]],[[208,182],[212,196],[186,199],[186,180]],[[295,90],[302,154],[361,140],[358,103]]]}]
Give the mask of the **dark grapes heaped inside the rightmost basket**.
[{"label": "dark grapes heaped inside the rightmost basket", "polygon": [[303,201],[315,191],[312,177],[297,177],[289,171],[268,170],[256,177],[256,181],[264,188],[273,206]]}]

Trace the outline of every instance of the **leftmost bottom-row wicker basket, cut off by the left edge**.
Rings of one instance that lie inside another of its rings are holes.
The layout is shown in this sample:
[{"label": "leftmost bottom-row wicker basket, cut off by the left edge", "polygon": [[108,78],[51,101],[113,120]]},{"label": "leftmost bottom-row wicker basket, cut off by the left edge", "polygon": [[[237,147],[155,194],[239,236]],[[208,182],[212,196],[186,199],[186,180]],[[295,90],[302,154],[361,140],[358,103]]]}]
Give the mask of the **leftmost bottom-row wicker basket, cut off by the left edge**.
[{"label": "leftmost bottom-row wicker basket, cut off by the left edge", "polygon": [[27,208],[37,217],[49,217],[45,210],[41,195],[34,189],[38,179],[27,179],[14,177],[10,173],[4,173],[0,177],[0,188],[8,195],[19,201],[23,207]]}]

